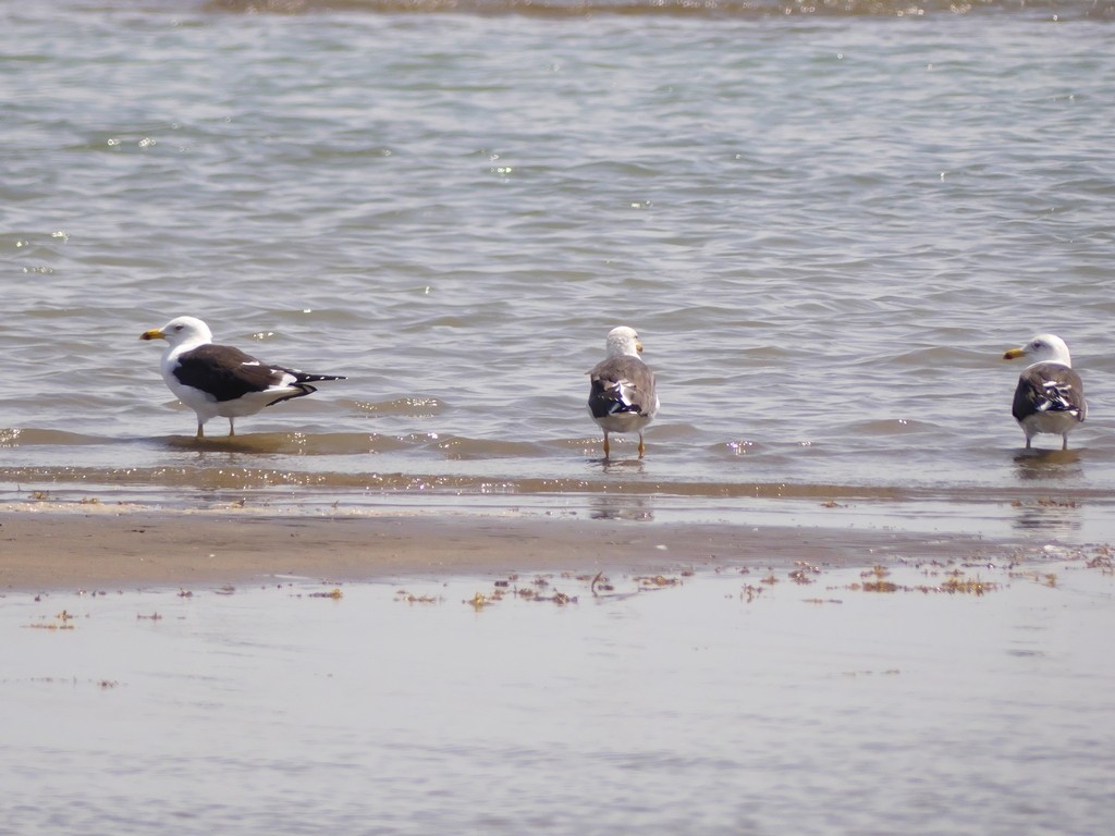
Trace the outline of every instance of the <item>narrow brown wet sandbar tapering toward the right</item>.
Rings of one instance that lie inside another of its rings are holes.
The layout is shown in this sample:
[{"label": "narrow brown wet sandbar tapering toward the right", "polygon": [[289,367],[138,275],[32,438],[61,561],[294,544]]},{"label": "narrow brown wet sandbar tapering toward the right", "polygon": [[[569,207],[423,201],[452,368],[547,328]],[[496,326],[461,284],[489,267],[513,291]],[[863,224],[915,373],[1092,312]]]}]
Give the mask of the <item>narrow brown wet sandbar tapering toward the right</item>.
[{"label": "narrow brown wet sandbar tapering toward the right", "polygon": [[166,587],[275,575],[367,581],[515,571],[867,565],[1017,551],[968,535],[549,516],[0,514],[0,589]]}]

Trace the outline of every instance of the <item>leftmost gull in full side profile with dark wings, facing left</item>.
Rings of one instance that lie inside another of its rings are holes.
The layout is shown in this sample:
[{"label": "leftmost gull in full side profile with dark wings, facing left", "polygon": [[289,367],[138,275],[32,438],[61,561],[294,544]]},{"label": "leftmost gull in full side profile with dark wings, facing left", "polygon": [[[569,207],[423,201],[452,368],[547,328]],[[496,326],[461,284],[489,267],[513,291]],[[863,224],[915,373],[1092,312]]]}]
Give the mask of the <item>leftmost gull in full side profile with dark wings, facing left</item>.
[{"label": "leftmost gull in full side profile with dark wings, facing left", "polygon": [[210,418],[227,418],[229,435],[234,436],[233,419],[311,395],[317,391],[311,383],[345,380],[338,375],[308,375],[272,366],[232,346],[214,346],[209,325],[194,317],[172,319],[162,328],[144,331],[139,339],[169,343],[163,352],[163,380],[197,414],[197,438],[205,437]]}]

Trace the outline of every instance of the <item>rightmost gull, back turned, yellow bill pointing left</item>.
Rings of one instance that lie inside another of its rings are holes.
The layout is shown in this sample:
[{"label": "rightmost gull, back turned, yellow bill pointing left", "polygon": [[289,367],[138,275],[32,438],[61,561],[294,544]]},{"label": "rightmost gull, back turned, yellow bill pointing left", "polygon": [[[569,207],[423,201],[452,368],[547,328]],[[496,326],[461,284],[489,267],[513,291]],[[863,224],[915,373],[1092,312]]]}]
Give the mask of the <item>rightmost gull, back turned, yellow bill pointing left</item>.
[{"label": "rightmost gull, back turned, yellow bill pointing left", "polygon": [[1010,410],[1026,434],[1026,449],[1038,432],[1060,436],[1061,449],[1068,449],[1068,434],[1088,411],[1084,382],[1073,370],[1068,346],[1051,333],[1039,333],[1025,346],[1010,349],[1004,360],[1025,357],[1030,361],[1018,377],[1015,405]]}]

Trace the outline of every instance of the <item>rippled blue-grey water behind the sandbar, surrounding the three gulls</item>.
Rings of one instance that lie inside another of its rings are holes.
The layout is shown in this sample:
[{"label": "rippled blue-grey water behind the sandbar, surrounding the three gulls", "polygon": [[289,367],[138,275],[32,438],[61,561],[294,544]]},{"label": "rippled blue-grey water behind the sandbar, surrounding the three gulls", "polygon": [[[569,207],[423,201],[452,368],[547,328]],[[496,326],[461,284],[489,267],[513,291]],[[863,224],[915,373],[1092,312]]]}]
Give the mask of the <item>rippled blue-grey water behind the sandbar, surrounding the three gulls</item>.
[{"label": "rippled blue-grey water behind the sandbar, surrounding the three gulls", "polygon": [[[1108,6],[409,8],[3,6],[3,498],[1106,508]],[[197,444],[183,313],[349,380]],[[621,322],[662,410],[604,466]],[[1068,454],[1009,415],[1039,330]]]}]

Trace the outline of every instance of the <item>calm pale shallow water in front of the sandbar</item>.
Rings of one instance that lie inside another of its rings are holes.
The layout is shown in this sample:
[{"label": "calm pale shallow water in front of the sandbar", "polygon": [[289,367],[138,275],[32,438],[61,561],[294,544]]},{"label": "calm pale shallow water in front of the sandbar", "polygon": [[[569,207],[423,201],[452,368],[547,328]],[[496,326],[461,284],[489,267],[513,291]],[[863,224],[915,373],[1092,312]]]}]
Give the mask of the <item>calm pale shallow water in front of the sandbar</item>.
[{"label": "calm pale shallow water in front of the sandbar", "polygon": [[57,834],[1104,833],[1109,565],[8,595],[0,811]]}]

